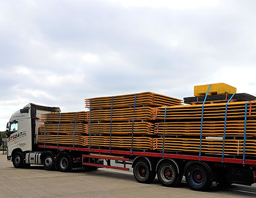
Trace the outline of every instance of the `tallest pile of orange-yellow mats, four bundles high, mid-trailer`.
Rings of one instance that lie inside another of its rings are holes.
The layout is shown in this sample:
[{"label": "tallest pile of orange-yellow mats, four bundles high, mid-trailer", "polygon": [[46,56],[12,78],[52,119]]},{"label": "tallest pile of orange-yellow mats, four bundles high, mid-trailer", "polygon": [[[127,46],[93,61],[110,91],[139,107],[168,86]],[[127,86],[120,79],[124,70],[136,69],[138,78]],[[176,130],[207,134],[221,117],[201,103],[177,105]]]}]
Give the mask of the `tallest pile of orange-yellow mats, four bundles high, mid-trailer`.
[{"label": "tallest pile of orange-yellow mats, four bundles high, mid-trailer", "polygon": [[[153,107],[181,105],[176,98],[144,92],[85,100],[90,108],[85,146],[152,149]],[[102,135],[99,135],[102,134]]]}]

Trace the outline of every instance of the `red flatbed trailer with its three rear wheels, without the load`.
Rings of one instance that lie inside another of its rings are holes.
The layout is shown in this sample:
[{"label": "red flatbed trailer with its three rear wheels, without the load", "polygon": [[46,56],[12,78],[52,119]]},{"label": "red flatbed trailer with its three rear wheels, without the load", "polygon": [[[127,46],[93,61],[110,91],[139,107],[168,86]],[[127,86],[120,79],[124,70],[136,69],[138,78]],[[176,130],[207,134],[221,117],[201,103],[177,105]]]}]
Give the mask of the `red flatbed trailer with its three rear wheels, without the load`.
[{"label": "red flatbed trailer with its three rear wheels, without the load", "polygon": [[[156,173],[160,183],[168,187],[179,185],[184,175],[193,190],[207,190],[210,187],[217,186],[225,187],[230,183],[251,185],[256,182],[255,159],[245,159],[243,161],[243,159],[238,158],[224,158],[222,161],[222,157],[201,156],[200,160],[199,156],[195,155],[170,153],[164,153],[163,155],[162,153],[153,152],[110,151],[108,149],[54,145],[38,145],[38,148],[40,150],[61,151],[63,153],[70,152],[69,155],[77,152],[79,153],[78,158],[82,157],[81,164],[87,167],[130,170],[130,168],[126,167],[126,163],[132,162],[134,177],[138,182],[142,183],[152,182],[156,177]],[[98,159],[106,160],[107,165],[96,162],[95,160]],[[111,166],[110,160],[121,161],[123,167]],[[139,164],[139,167],[137,164]],[[168,167],[171,167],[171,169],[168,169]],[[146,177],[145,174],[148,174],[147,179],[144,178]],[[166,176],[163,176],[163,174]]]}]

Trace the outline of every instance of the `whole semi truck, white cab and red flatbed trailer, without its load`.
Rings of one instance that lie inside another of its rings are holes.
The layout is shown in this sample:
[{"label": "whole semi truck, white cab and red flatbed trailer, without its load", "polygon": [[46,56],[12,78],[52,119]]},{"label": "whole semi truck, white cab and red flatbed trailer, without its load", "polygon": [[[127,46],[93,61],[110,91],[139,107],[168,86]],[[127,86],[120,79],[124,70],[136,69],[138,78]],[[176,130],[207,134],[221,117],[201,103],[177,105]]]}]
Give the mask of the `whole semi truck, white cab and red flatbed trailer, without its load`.
[{"label": "whole semi truck, white cab and red flatbed trailer, without its load", "polygon": [[45,170],[66,172],[97,168],[130,170],[132,165],[134,178],[140,183],[151,183],[157,175],[162,185],[177,187],[184,176],[189,187],[197,191],[226,187],[232,183],[251,185],[256,182],[256,158],[223,159],[221,155],[198,156],[123,149],[110,151],[74,144],[38,144],[41,115],[60,112],[59,107],[29,103],[11,115],[6,126],[7,159],[15,168],[43,165]]}]

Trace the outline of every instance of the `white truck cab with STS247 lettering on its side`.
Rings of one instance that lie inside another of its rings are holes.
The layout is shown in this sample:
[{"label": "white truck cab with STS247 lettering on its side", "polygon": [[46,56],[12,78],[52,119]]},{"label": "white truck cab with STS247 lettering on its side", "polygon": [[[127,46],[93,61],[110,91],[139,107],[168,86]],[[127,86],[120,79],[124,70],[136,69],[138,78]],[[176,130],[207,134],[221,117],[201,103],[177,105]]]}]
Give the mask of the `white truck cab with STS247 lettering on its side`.
[{"label": "white truck cab with STS247 lettering on its side", "polygon": [[[42,123],[40,121],[41,114],[54,112],[59,113],[61,109],[29,103],[11,115],[6,126],[8,160],[13,160],[18,165],[20,160],[25,159],[22,153],[37,151],[38,128]],[[15,153],[17,154],[15,155]],[[12,157],[15,159],[11,159]]]}]

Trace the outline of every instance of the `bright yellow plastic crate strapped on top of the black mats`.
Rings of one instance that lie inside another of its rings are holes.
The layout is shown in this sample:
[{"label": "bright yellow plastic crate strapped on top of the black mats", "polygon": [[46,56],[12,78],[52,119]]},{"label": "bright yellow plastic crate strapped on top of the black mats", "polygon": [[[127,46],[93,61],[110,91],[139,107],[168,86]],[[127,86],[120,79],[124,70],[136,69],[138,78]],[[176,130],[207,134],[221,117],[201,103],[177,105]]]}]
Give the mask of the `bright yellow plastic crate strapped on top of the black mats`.
[{"label": "bright yellow plastic crate strapped on top of the black mats", "polygon": [[[205,96],[208,88],[209,84],[194,86],[194,96]],[[225,83],[215,83],[211,85],[208,95],[232,93],[237,93],[237,88],[234,88],[234,86],[230,86]]]}]

